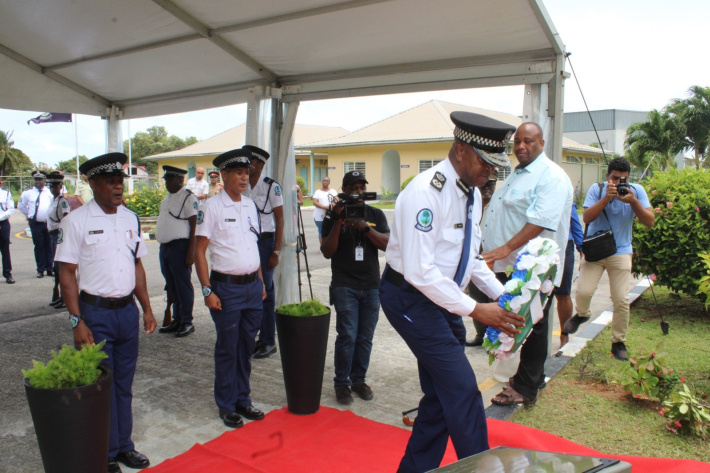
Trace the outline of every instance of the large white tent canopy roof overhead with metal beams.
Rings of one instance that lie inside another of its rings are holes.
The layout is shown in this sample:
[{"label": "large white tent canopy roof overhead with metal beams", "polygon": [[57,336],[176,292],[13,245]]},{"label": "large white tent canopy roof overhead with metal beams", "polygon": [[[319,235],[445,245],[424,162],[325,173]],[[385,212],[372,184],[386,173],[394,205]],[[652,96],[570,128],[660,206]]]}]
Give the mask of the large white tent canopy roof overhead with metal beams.
[{"label": "large white tent canopy roof overhead with metal beams", "polygon": [[[123,118],[548,82],[542,0],[0,0],[0,108]],[[260,89],[261,90],[261,89]]]}]

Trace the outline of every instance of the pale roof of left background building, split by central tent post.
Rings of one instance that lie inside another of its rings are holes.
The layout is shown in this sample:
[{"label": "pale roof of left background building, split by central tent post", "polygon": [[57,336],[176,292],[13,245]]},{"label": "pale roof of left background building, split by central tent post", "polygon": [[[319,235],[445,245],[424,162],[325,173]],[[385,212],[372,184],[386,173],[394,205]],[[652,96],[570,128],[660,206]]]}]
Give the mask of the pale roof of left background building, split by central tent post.
[{"label": "pale roof of left background building, split by central tent post", "polygon": [[[347,132],[348,131],[345,128],[296,124],[293,129],[293,141],[294,145],[298,146],[311,141],[319,141],[342,136]],[[235,126],[234,128],[230,128],[227,131],[223,131],[212,138],[207,138],[206,140],[195,143],[194,145],[187,146],[177,151],[169,151],[167,153],[148,156],[144,159],[157,161],[161,159],[186,158],[192,156],[216,156],[224,153],[225,151],[229,151],[230,149],[244,146],[246,144],[244,142],[245,136],[246,124],[243,123],[239,126]]]}]

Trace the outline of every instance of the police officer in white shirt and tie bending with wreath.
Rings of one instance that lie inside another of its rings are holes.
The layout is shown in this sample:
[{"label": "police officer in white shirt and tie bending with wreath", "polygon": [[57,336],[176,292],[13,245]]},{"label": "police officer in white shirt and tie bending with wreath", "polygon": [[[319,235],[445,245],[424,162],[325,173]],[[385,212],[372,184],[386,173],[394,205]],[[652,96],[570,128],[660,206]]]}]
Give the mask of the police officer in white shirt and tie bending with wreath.
[{"label": "police officer in white shirt and tie bending with wreath", "polygon": [[509,335],[523,318],[496,303],[476,303],[462,290],[473,281],[496,299],[503,285],[477,257],[481,194],[495,167],[509,165],[505,149],[515,128],[483,115],[454,112],[447,159],[418,174],[397,198],[382,309],[419,366],[424,392],[400,472],[437,468],[451,437],[459,458],[487,450],[483,400],[464,353],[462,316]]}]

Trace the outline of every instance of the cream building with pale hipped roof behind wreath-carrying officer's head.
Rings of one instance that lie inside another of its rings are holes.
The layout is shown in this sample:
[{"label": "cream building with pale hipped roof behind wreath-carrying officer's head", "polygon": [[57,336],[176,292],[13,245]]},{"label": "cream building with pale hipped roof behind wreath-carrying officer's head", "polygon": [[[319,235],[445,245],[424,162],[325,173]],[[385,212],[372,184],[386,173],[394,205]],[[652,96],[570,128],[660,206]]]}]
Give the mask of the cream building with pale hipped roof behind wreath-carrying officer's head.
[{"label": "cream building with pale hipped roof behind wreath-carrying officer's head", "polygon": [[[454,129],[449,115],[456,110],[487,115],[515,127],[522,123],[515,115],[432,100],[347,135],[296,146],[300,151],[296,172],[310,182],[305,156],[309,154],[321,163],[327,162],[334,188],[340,187],[345,173],[358,170],[367,177],[368,190],[379,195],[396,194],[409,177],[446,158]],[[586,191],[604,177],[606,167],[602,165],[601,150],[568,138],[563,138],[562,148],[561,165],[575,189]],[[512,143],[508,155],[515,167]],[[323,159],[326,156],[327,161]],[[501,173],[499,178],[505,179],[509,172]],[[317,185],[320,176],[315,177]]]}]

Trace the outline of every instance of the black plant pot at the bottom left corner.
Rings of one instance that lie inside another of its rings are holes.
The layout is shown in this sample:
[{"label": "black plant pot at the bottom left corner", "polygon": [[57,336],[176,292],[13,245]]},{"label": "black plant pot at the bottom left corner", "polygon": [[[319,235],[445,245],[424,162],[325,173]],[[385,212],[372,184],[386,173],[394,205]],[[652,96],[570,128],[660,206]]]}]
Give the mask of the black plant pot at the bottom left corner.
[{"label": "black plant pot at the bottom left corner", "polygon": [[25,393],[45,473],[97,473],[108,467],[111,370],[89,386],[38,389],[25,379]]}]

